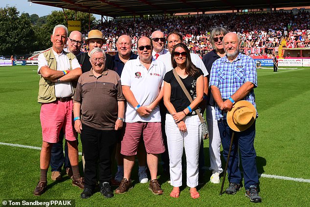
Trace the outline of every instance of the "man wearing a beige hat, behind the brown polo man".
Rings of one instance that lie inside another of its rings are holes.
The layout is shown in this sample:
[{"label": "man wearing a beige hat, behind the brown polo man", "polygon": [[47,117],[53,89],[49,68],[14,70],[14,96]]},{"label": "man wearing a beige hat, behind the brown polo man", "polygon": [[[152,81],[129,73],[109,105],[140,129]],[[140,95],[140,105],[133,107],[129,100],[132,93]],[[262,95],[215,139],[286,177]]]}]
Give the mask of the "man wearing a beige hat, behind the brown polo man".
[{"label": "man wearing a beige hat, behind the brown polo man", "polygon": [[[88,53],[82,53],[78,55],[76,58],[79,61],[82,72],[87,72],[91,69],[91,64],[89,62],[90,58],[90,52],[96,47],[101,48],[102,45],[106,42],[107,40],[103,38],[103,34],[100,30],[98,29],[93,29],[89,31],[88,38],[85,40],[85,43],[87,46],[89,46],[89,52]],[[106,53],[106,68],[107,69],[112,69],[113,67],[113,60],[112,56]]]}]

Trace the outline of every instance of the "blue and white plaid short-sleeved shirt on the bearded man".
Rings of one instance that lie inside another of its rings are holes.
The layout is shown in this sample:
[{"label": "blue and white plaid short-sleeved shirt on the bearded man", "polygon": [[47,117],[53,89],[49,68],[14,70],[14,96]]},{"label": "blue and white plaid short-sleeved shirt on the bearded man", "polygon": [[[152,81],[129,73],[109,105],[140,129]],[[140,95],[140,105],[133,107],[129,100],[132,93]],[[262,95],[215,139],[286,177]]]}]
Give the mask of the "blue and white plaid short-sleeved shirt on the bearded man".
[{"label": "blue and white plaid short-sleeved shirt on the bearded man", "polygon": [[[251,82],[254,84],[254,88],[257,87],[257,71],[253,58],[239,53],[232,63],[229,62],[226,56],[214,61],[211,68],[209,86],[218,87],[223,100],[228,99],[245,82]],[[251,90],[243,100],[251,102],[256,108],[254,90]],[[217,104],[215,116],[217,120],[226,118],[226,113],[224,113],[223,117],[221,109]]]}]

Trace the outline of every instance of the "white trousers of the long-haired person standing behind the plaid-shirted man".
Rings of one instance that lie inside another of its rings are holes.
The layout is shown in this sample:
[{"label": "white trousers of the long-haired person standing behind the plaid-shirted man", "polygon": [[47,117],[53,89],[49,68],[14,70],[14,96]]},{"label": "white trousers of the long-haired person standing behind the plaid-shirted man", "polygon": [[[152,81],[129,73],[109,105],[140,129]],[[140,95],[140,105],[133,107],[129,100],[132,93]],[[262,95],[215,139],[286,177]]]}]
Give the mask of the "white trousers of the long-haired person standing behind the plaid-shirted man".
[{"label": "white trousers of the long-haired person standing behind the plaid-shirted man", "polygon": [[223,172],[221,168],[221,137],[214,106],[207,105],[206,121],[209,130],[210,170],[221,173]]}]

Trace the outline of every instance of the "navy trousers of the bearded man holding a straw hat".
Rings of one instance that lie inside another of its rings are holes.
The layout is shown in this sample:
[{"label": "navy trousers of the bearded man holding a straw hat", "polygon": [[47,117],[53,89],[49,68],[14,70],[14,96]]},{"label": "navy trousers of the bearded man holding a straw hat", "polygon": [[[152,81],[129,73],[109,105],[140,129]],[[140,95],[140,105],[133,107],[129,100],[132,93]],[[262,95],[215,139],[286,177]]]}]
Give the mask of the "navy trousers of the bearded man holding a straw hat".
[{"label": "navy trousers of the bearded man holding a straw hat", "polygon": [[[221,143],[223,147],[223,157],[227,161],[232,130],[226,120],[218,121]],[[256,152],[254,149],[255,122],[243,132],[235,132],[230,158],[228,162],[228,180],[230,183],[241,183],[242,177],[238,166],[239,152],[244,172],[244,187],[248,189],[250,185],[258,184],[258,173],[256,167]]]}]

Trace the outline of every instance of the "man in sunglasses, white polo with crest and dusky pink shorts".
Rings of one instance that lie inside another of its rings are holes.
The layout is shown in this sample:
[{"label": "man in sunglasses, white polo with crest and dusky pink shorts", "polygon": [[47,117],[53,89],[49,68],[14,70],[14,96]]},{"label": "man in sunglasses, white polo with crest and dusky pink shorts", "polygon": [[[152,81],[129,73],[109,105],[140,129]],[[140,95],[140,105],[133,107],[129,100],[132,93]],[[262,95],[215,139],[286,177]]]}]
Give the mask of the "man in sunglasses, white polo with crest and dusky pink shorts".
[{"label": "man in sunglasses, white polo with crest and dusky pink shorts", "polygon": [[158,103],[163,96],[165,66],[152,58],[153,45],[149,37],[139,38],[137,47],[139,57],[127,61],[121,76],[122,90],[127,100],[125,135],[121,143],[124,178],[115,193],[122,194],[132,188],[134,156],[143,135],[151,173],[149,189],[159,195],[163,190],[157,180],[158,155],[165,151],[165,147]]}]

